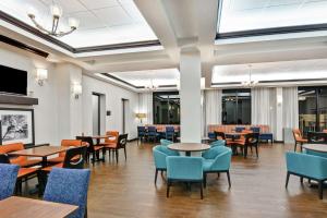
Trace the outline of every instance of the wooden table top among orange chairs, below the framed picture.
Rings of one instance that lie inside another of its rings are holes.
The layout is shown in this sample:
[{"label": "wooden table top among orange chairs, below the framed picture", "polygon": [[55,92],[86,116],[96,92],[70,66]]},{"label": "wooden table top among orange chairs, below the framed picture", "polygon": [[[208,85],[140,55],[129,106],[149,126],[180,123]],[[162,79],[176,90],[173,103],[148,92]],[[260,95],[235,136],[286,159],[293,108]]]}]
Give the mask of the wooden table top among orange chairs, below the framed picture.
[{"label": "wooden table top among orange chairs, below the framed picture", "polygon": [[9,153],[9,155],[16,155],[16,156],[27,156],[27,157],[47,157],[50,155],[56,155],[61,152],[68,150],[70,147],[64,146],[40,146],[40,147],[33,147],[23,150],[16,150],[13,153]]}]

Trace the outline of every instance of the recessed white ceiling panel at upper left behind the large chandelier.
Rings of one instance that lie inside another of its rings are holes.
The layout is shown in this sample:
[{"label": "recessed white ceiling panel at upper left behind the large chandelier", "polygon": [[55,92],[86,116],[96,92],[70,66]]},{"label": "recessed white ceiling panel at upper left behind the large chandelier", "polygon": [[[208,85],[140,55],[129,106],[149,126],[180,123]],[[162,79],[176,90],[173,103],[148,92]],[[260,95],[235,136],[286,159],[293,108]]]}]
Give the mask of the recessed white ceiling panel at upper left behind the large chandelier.
[{"label": "recessed white ceiling panel at upper left behind the large chandelier", "polygon": [[[56,0],[55,2],[63,10],[60,29],[69,29],[68,17],[80,20],[77,31],[58,38],[74,48],[157,39],[133,0]],[[37,22],[49,27],[51,3],[52,0],[1,0],[0,10],[33,25],[27,16],[27,11],[33,8]]]}]

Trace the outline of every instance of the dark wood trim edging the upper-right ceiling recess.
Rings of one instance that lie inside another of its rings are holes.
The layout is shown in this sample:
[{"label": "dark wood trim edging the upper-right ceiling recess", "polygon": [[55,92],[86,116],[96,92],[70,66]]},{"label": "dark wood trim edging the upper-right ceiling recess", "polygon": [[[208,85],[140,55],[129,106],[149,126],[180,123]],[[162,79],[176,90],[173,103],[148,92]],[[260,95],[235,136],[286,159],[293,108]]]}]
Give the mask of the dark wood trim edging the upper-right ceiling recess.
[{"label": "dark wood trim edging the upper-right ceiling recess", "polygon": [[276,34],[292,34],[292,33],[303,33],[303,32],[305,33],[305,32],[326,31],[326,29],[327,29],[327,24],[283,26],[283,27],[229,32],[229,33],[217,33],[216,39],[276,35]]}]

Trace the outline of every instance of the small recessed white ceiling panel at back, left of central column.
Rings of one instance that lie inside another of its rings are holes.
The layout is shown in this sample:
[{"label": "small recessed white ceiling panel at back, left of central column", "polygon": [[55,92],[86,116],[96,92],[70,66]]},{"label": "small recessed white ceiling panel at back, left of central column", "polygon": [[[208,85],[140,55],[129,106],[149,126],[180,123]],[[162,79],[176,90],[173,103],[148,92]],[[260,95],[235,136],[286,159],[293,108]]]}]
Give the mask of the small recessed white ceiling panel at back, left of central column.
[{"label": "small recessed white ceiling panel at back, left of central column", "polygon": [[110,74],[134,86],[149,86],[152,84],[157,86],[177,85],[180,81],[180,72],[178,69],[129,71]]}]

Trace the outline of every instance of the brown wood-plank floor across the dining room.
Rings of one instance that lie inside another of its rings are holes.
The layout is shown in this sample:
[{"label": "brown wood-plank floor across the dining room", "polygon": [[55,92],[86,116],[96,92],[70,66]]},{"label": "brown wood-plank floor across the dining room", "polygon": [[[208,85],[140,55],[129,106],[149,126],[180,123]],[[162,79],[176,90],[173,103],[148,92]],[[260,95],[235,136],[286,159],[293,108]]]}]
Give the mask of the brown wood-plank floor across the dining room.
[{"label": "brown wood-plank floor across the dining room", "polygon": [[172,186],[166,198],[166,182],[160,177],[154,184],[154,145],[130,143],[128,161],[120,154],[119,165],[98,162],[92,169],[88,191],[88,217],[327,217],[325,199],[318,199],[317,190],[303,185],[292,177],[284,189],[284,152],[291,145],[262,144],[259,159],[233,157],[232,187],[226,174],[208,177],[204,199],[198,186],[191,192],[183,184]]}]

